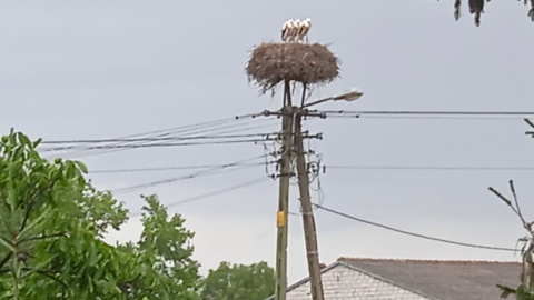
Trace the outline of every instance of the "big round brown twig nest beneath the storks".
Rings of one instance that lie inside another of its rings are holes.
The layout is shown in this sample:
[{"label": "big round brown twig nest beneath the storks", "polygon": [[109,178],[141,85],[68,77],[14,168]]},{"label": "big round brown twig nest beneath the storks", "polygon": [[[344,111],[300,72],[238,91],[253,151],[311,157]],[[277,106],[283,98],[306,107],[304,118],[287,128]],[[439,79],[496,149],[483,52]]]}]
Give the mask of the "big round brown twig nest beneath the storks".
[{"label": "big round brown twig nest beneath the storks", "polygon": [[334,53],[319,43],[261,43],[254,49],[246,71],[249,81],[267,92],[286,80],[329,83],[339,76],[339,66]]}]

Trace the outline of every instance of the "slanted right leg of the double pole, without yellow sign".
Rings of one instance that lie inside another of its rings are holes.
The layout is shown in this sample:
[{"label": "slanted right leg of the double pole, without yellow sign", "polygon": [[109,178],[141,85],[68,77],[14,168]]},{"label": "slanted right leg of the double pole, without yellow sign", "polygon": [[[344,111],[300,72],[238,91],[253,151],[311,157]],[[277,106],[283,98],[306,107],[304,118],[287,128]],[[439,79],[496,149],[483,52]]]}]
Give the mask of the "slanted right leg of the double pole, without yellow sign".
[{"label": "slanted right leg of the double pole, without yellow sign", "polygon": [[315,228],[312,197],[309,194],[308,167],[306,164],[303,114],[298,111],[295,117],[295,150],[297,154],[298,189],[300,192],[300,206],[304,223],[304,237],[306,240],[306,254],[308,260],[309,282],[312,286],[312,299],[324,300],[323,282],[320,280],[319,252],[317,246],[317,231]]}]

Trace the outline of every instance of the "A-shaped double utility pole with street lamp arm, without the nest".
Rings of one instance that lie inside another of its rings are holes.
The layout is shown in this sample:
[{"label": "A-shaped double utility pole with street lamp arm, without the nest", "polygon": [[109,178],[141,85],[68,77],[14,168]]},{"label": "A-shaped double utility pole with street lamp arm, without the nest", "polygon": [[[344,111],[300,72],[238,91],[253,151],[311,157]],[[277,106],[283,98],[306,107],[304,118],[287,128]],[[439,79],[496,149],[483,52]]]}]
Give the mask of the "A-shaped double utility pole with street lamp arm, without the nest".
[{"label": "A-shaped double utility pole with street lamp arm, without the nest", "polygon": [[[280,112],[265,111],[265,116],[281,114],[281,158],[279,201],[277,213],[277,252],[276,252],[276,288],[275,300],[286,300],[287,290],[287,238],[288,238],[288,209],[289,209],[289,179],[293,174],[290,162],[294,152],[297,160],[298,188],[303,213],[304,232],[306,240],[306,253],[310,279],[312,299],[324,300],[323,282],[320,279],[319,253],[317,244],[317,231],[315,228],[312,197],[309,192],[308,167],[303,137],[303,116],[320,117],[320,113],[310,112],[307,108],[327,101],[355,101],[363,96],[360,91],[350,91],[335,97],[301,104],[300,108],[291,106],[289,82],[284,88],[284,107]],[[304,97],[304,96],[303,96]],[[310,137],[308,137],[310,138]]]}]

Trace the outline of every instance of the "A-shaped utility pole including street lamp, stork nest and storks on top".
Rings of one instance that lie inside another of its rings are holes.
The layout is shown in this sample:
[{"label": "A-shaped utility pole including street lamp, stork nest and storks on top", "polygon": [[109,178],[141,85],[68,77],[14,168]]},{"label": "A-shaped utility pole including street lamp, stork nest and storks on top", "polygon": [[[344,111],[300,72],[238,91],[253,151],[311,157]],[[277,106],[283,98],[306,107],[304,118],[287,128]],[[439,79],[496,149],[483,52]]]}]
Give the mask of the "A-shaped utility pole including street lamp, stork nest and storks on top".
[{"label": "A-shaped utility pole including street lamp, stork nest and storks on top", "polygon": [[[308,23],[309,19],[306,19],[301,23],[293,20],[285,22],[281,30],[283,42],[264,42],[256,46],[246,68],[246,73],[249,80],[255,81],[256,84],[261,88],[263,92],[274,92],[275,88],[277,88],[281,81],[284,82],[284,104],[281,111],[270,112],[266,110],[263,113],[266,117],[274,114],[281,114],[283,117],[283,146],[281,158],[279,159],[280,172],[277,212],[275,300],[286,300],[289,179],[295,172],[291,170],[291,162],[295,152],[297,152],[297,173],[303,208],[308,269],[313,287],[312,294],[313,300],[324,299],[318,262],[317,237],[309,192],[309,178],[304,152],[301,116],[305,114],[323,118],[323,113],[310,112],[306,108],[326,101],[354,101],[363,94],[359,91],[352,91],[317,100],[315,102],[305,103],[307,94],[306,89],[308,87],[328,83],[339,76],[338,59],[326,46],[319,43],[308,44],[307,40],[306,42],[296,42],[296,40],[298,40],[296,38],[301,37],[295,34],[295,30],[290,30],[293,33],[287,30],[296,26],[298,28],[297,31],[299,32],[301,29],[305,29],[306,33],[304,36],[307,37],[307,32],[309,31]],[[290,81],[303,83],[300,107],[294,107],[291,104]],[[310,137],[307,136],[306,138]]]}]

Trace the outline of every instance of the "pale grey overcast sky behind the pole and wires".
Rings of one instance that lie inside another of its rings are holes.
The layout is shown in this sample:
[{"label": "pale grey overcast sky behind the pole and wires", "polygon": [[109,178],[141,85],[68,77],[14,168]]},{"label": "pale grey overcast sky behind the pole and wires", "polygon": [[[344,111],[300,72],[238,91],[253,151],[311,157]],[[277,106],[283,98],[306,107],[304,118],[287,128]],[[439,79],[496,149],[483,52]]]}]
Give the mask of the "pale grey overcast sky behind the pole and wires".
[{"label": "pale grey overcast sky behind the pole and wires", "polygon": [[[105,139],[277,109],[244,68],[255,44],[278,40],[288,18],[312,18],[309,39],[330,43],[342,78],[314,98],[364,90],[322,109],[534,111],[534,24],[520,2],[490,2],[476,28],[451,1],[0,1],[0,129],[46,140]],[[528,100],[531,99],[531,100]],[[277,120],[243,120],[274,132]],[[238,122],[231,123],[238,124]],[[326,119],[306,123],[326,166],[534,167],[520,119]],[[236,127],[239,128],[239,127]],[[243,133],[243,132],[239,132]],[[255,144],[128,150],[81,157],[90,170],[228,163],[264,153]],[[76,158],[76,157],[73,157]],[[260,160],[257,160],[260,161]],[[190,173],[93,173],[116,189]],[[172,203],[265,177],[258,166],[117,194]],[[514,179],[534,218],[534,171],[328,169],[324,206],[424,234],[515,247],[520,222],[487,187]],[[274,266],[277,182],[171,207],[196,232],[202,272],[221,260]],[[294,188],[294,191],[296,189]],[[317,193],[314,193],[317,200]],[[298,212],[297,194],[291,210]],[[421,240],[316,212],[320,260],[338,257],[516,260],[510,252]],[[138,218],[109,241],[137,239]],[[307,274],[301,220],[290,219],[289,283]]]}]

